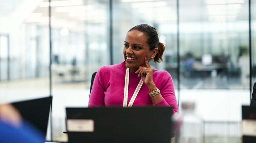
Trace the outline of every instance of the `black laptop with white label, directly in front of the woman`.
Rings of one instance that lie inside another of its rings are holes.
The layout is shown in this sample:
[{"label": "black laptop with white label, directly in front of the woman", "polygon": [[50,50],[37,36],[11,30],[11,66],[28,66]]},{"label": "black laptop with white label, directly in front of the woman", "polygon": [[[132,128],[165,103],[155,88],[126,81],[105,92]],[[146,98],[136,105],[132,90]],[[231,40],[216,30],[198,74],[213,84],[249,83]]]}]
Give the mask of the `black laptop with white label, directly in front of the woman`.
[{"label": "black laptop with white label, directly in front of the woman", "polygon": [[69,143],[170,143],[172,107],[66,108]]}]

